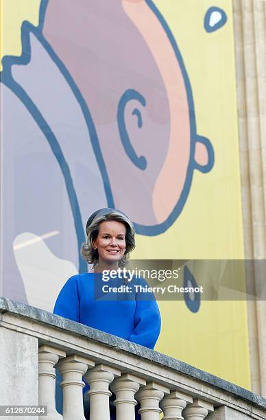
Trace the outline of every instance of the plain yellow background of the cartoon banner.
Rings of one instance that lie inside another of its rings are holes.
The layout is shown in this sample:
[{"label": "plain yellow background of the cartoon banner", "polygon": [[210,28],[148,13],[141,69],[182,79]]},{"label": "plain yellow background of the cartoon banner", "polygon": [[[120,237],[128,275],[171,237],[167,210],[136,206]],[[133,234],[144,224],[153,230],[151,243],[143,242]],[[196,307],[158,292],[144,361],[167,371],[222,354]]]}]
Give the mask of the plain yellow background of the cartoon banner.
[{"label": "plain yellow background of the cartoon banner", "polygon": [[[242,259],[243,229],[237,133],[232,3],[216,0],[228,21],[204,30],[210,0],[156,0],[189,73],[197,134],[208,137],[215,166],[195,171],[186,205],[173,226],[157,237],[138,235],[136,259]],[[38,24],[39,0],[1,0],[1,55],[21,54],[21,23]],[[4,19],[3,19],[4,17]],[[184,301],[159,301],[158,351],[250,388],[245,302],[201,303],[193,314]]]}]

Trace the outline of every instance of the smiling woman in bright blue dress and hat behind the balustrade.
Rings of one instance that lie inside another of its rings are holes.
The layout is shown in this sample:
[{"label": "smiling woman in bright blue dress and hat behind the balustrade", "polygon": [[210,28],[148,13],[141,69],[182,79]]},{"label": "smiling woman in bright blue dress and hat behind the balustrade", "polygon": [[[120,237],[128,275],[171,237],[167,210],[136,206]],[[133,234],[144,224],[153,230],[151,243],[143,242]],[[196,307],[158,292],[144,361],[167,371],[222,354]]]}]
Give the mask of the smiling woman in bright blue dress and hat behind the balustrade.
[{"label": "smiling woman in bright blue dress and hat behind the balustrade", "polygon": [[[53,313],[154,349],[160,334],[160,312],[154,296],[147,299],[141,293],[108,296],[99,292],[99,285],[103,284],[102,272],[117,272],[125,267],[135,247],[132,222],[116,209],[99,209],[88,218],[86,233],[82,255],[88,264],[93,264],[93,270],[66,281]],[[104,285],[126,282],[127,279],[117,275]],[[132,279],[130,284],[134,283],[147,285],[141,278]],[[84,388],[84,392],[87,389]]]}]

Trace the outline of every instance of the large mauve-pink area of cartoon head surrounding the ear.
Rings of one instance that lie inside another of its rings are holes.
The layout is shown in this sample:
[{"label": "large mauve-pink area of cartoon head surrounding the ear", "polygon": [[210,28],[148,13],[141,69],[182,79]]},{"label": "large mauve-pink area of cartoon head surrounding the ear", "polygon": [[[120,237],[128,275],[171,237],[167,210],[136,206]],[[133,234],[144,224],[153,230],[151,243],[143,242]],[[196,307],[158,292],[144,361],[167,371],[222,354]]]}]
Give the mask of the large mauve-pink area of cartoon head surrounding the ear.
[{"label": "large mauve-pink area of cartoon head surrounding the ear", "polygon": [[[148,16],[156,20],[152,10]],[[78,0],[74,9],[71,0],[49,0],[43,33],[88,105],[115,207],[138,224],[157,224],[153,191],[167,156],[171,119],[165,84],[145,39],[121,0]],[[145,171],[125,153],[119,132],[119,101],[130,89],[147,106],[129,100],[120,118],[136,154],[147,159]],[[141,112],[141,130],[134,108]]]}]

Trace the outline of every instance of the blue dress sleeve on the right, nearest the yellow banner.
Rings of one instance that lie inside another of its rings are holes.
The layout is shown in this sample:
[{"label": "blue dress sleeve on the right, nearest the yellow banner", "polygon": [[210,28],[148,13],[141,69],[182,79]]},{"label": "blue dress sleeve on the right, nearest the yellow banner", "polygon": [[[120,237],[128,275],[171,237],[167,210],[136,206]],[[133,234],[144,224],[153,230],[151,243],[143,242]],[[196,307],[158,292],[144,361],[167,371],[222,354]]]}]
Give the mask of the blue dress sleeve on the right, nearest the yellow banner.
[{"label": "blue dress sleeve on the right, nearest the yellow banner", "polygon": [[[148,285],[144,279],[141,283]],[[154,349],[160,334],[160,312],[154,294],[136,294],[135,327],[129,338],[136,344]]]}]

